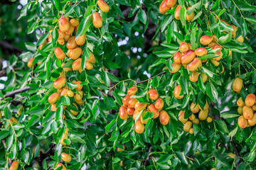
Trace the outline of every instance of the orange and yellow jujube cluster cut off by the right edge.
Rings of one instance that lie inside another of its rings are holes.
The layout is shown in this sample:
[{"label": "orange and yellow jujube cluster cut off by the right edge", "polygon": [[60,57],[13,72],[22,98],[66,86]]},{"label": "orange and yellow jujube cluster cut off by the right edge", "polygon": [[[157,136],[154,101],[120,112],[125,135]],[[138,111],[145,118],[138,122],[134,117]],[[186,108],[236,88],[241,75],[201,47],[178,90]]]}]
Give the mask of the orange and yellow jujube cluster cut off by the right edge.
[{"label": "orange and yellow jujube cluster cut off by the right edge", "polygon": [[[233,91],[240,94],[243,86],[243,81],[240,77],[237,77],[232,84]],[[256,96],[255,94],[248,94],[245,101],[242,97],[238,98],[238,113],[240,117],[238,118],[238,125],[240,128],[246,128],[247,126],[256,125]]]}]

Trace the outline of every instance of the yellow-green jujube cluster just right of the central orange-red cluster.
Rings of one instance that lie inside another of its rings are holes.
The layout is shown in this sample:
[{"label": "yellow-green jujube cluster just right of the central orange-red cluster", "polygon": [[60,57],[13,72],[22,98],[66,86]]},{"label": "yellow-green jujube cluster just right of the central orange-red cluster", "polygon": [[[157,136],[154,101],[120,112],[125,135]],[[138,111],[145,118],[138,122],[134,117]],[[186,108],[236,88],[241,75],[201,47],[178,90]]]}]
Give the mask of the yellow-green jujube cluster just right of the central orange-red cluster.
[{"label": "yellow-green jujube cluster just right of the central orange-red cluster", "polygon": [[[209,113],[209,105],[206,101],[206,105],[201,108],[198,104],[191,103],[191,115],[188,118],[185,118],[185,112],[186,111],[180,111],[178,113],[178,120],[183,123],[183,130],[185,132],[189,132],[190,134],[193,134],[193,123],[198,125],[200,123],[200,120],[206,120],[208,123],[211,123],[213,121],[213,118],[208,116]],[[198,113],[199,112],[199,113]],[[198,115],[196,115],[198,113]],[[189,120],[188,120],[189,119]]]}]

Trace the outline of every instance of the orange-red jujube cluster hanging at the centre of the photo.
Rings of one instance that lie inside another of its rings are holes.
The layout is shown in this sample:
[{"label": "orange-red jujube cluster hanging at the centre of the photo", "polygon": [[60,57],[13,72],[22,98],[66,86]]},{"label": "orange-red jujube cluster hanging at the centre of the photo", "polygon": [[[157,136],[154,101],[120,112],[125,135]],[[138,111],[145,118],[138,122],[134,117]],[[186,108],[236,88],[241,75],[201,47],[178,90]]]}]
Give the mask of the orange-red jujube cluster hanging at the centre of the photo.
[{"label": "orange-red jujube cluster hanging at the centre of the photo", "polygon": [[[159,121],[162,125],[167,125],[170,120],[170,116],[164,108],[164,101],[162,98],[159,98],[159,94],[156,89],[149,89],[149,99],[150,103],[140,103],[137,98],[132,98],[138,91],[136,86],[132,86],[127,91],[127,96],[122,99],[123,105],[119,108],[119,117],[122,120],[127,120],[127,118],[133,118],[137,121],[134,123],[134,130],[137,133],[144,132],[144,124],[147,123],[149,118],[145,118],[146,113],[153,113],[153,119],[159,118]],[[130,115],[130,117],[129,117]]]}]

